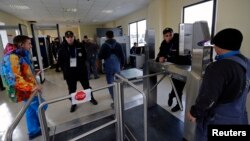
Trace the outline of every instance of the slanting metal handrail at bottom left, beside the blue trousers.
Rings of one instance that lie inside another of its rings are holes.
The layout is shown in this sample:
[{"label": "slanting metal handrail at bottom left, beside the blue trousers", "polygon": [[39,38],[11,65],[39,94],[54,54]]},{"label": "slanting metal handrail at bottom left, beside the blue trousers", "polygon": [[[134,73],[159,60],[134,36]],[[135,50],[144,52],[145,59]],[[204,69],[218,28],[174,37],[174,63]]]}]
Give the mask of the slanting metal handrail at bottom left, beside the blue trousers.
[{"label": "slanting metal handrail at bottom left, beside the blue trousers", "polygon": [[13,132],[16,129],[18,123],[21,121],[21,119],[22,119],[24,113],[26,112],[28,106],[31,104],[31,102],[35,98],[35,95],[40,97],[40,93],[38,92],[38,90],[35,90],[34,92],[32,92],[31,97],[28,99],[27,103],[22,107],[22,109],[17,114],[16,118],[14,119],[13,123],[8,127],[8,129],[7,129],[6,133],[5,133],[4,141],[12,141]]}]

